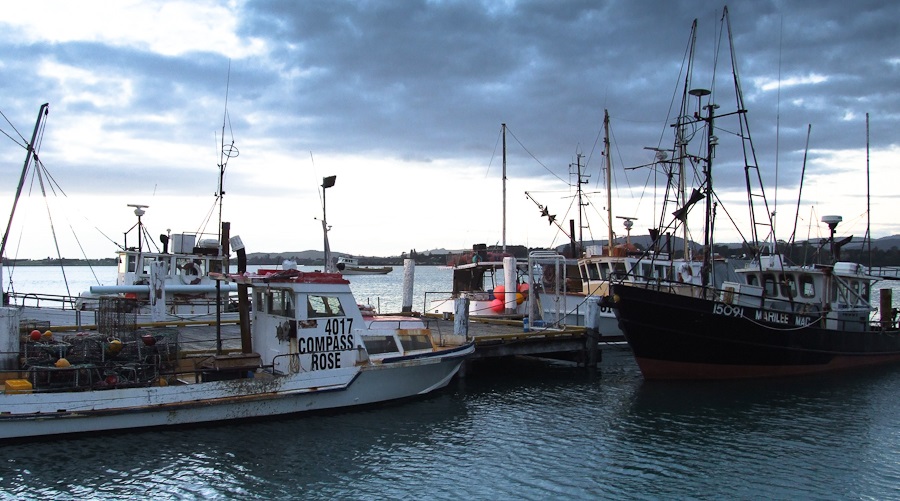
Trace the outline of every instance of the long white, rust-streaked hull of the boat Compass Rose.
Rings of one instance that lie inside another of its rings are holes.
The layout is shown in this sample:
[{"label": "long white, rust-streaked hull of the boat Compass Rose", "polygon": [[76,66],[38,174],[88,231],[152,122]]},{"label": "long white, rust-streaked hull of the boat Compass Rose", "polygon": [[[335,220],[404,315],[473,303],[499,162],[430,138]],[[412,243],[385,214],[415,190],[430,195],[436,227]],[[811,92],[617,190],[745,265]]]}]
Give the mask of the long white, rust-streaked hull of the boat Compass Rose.
[{"label": "long white, rust-streaked hull of the boat Compass Rose", "polygon": [[0,395],[0,440],[218,423],[389,402],[445,387],[472,343],[327,371],[164,387]]}]

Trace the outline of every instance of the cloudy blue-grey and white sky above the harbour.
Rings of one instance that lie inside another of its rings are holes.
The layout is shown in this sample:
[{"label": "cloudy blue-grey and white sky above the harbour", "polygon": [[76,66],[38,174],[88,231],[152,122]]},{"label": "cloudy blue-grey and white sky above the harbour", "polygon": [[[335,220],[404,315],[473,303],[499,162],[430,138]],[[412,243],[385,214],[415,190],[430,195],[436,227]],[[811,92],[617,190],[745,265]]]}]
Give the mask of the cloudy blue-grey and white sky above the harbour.
[{"label": "cloudy blue-grey and white sky above the harbour", "polygon": [[[735,108],[724,72],[724,7],[22,2],[0,17],[4,229],[43,103],[49,113],[37,143],[47,175],[30,171],[6,257],[111,257],[136,244],[134,231],[126,236],[136,222],[129,204],[148,206],[142,222],[154,240],[166,232],[214,237],[223,163],[222,219],[248,252],[321,249],[320,186],[332,175],[325,215],[337,252],[502,244],[504,227],[510,245],[565,243],[538,204],[566,230],[574,220],[577,237],[604,239],[604,110],[614,231],[624,236],[620,218],[629,217],[632,232],[646,234],[659,223],[663,196],[647,148],[672,147],[672,107],[695,19],[691,87],[713,90],[719,113]],[[843,217],[842,236],[861,237],[868,227],[874,238],[900,233],[892,212],[900,3],[753,0],[727,8],[776,238],[820,238],[820,220],[831,214]],[[722,123],[716,240],[738,242],[746,232],[731,220],[748,224],[747,189],[743,160],[725,146],[734,129]],[[222,144],[239,154],[223,162]],[[588,197],[581,219],[576,164]],[[702,240],[695,219],[702,216],[691,213],[691,237]]]}]

